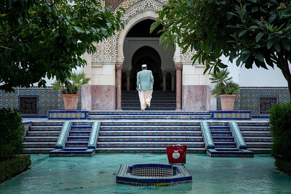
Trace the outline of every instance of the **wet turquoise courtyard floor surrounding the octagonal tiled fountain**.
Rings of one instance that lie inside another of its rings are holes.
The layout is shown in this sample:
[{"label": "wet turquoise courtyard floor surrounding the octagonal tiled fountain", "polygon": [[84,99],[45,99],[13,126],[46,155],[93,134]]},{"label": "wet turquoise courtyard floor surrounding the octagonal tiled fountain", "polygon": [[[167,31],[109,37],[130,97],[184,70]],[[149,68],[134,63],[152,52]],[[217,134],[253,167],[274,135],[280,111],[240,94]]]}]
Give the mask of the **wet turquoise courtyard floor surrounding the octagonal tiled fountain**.
[{"label": "wet turquoise courtyard floor surrounding the octagonal tiled fountain", "polygon": [[192,184],[137,187],[116,184],[121,164],[168,163],[167,154],[31,155],[31,169],[0,184],[0,194],[291,194],[291,177],[275,172],[274,159],[210,158],[187,154]]}]

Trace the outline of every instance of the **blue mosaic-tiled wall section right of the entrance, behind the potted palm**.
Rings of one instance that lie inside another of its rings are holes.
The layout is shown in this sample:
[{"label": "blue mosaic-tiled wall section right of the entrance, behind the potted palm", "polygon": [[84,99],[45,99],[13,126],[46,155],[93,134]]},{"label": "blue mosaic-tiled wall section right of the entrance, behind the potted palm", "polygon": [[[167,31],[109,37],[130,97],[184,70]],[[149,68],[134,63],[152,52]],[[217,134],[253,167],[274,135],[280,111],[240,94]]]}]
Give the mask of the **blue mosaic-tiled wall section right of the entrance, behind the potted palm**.
[{"label": "blue mosaic-tiled wall section right of the entrance, behind the potted palm", "polygon": [[[278,102],[289,102],[288,87],[241,87],[235,99],[234,110],[249,110],[252,116],[259,115],[259,97],[277,96]],[[221,110],[220,98],[217,97],[217,110]]]}]

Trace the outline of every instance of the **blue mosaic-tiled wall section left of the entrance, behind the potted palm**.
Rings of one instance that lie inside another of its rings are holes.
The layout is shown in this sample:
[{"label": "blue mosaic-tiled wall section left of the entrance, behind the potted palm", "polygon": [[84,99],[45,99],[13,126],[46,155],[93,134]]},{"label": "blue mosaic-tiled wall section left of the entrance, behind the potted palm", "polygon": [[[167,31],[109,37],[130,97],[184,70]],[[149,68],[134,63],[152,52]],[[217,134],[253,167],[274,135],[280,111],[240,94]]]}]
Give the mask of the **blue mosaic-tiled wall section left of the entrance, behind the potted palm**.
[{"label": "blue mosaic-tiled wall section left of the entrance, behind the potted palm", "polygon": [[[53,91],[51,87],[47,88],[15,88],[14,93],[5,93],[0,90],[0,108],[19,109],[18,97],[20,96],[38,96],[38,116],[48,116],[52,110],[64,110],[64,100],[60,91]],[[81,94],[81,90],[79,90]],[[81,109],[81,98],[78,101],[78,110]]]}]

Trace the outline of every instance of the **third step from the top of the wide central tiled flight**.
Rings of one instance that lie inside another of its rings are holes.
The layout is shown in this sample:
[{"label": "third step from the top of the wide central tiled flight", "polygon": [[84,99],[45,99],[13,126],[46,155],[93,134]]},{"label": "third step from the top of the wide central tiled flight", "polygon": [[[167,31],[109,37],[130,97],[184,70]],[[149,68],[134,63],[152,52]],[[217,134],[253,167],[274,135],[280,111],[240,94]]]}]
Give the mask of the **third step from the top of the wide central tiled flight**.
[{"label": "third step from the top of the wide central tiled flight", "polygon": [[114,137],[114,136],[99,136],[98,142],[203,142],[203,137],[197,136],[127,136],[127,137]]}]

